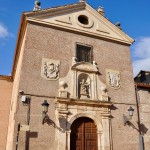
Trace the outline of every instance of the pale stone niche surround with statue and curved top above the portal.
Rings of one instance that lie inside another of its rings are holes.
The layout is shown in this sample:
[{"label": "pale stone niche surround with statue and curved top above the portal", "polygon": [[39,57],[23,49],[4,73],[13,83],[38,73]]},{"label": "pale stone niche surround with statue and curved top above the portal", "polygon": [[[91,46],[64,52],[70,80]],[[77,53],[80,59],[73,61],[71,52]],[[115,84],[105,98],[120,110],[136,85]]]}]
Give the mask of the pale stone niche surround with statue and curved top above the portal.
[{"label": "pale stone niche surround with statue and curved top above the portal", "polygon": [[67,76],[59,79],[59,85],[59,97],[108,101],[107,88],[99,79],[95,61],[93,64],[76,62],[73,58]]}]

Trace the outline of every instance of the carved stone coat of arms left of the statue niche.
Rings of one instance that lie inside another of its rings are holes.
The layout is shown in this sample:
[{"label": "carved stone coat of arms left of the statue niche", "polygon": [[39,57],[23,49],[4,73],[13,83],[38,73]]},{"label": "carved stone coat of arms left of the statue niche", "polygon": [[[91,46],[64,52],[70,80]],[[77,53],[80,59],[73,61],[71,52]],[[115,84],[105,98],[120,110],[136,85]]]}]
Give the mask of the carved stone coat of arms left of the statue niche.
[{"label": "carved stone coat of arms left of the statue niche", "polygon": [[60,61],[42,58],[41,76],[46,80],[57,80],[59,78]]}]

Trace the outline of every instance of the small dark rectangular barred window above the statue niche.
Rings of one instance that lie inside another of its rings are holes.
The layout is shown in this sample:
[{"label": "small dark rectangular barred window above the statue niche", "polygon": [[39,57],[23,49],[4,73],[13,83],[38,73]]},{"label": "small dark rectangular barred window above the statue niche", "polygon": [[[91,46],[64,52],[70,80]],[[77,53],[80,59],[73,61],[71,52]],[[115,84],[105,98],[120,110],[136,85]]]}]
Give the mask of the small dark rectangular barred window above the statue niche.
[{"label": "small dark rectangular barred window above the statue niche", "polygon": [[93,52],[91,46],[77,44],[76,57],[78,62],[93,62]]}]

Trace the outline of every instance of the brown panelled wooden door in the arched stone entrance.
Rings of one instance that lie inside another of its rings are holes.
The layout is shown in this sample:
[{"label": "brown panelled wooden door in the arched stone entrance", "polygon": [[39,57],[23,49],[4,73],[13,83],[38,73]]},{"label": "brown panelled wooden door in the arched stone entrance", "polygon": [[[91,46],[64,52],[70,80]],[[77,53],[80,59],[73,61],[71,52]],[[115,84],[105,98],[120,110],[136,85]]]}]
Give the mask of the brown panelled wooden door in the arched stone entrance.
[{"label": "brown panelled wooden door in the arched stone entrance", "polygon": [[82,117],[71,126],[70,150],[97,150],[97,129],[93,120]]}]

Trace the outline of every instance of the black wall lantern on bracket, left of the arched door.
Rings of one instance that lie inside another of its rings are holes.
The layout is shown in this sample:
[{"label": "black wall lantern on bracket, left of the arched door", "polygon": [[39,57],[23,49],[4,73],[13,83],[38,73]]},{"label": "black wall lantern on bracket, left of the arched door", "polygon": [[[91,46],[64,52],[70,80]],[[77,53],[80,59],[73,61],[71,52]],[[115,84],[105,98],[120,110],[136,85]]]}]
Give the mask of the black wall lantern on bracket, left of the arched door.
[{"label": "black wall lantern on bracket, left of the arched door", "polygon": [[42,124],[44,124],[45,119],[48,117],[47,112],[49,104],[47,103],[47,100],[44,100],[44,102],[41,105],[42,105]]}]

